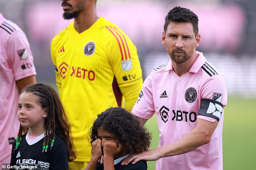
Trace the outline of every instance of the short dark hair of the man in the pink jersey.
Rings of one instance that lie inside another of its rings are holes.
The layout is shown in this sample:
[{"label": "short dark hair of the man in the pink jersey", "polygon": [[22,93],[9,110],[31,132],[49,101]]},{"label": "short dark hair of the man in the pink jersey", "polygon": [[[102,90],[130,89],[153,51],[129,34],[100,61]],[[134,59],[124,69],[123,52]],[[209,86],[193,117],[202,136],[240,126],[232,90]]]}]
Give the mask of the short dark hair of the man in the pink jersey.
[{"label": "short dark hair of the man in the pink jersey", "polygon": [[164,32],[171,21],[178,23],[192,23],[195,36],[198,34],[198,16],[188,8],[176,6],[172,8],[165,17]]}]

